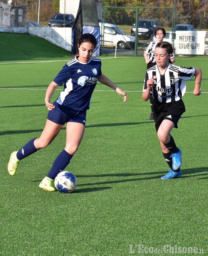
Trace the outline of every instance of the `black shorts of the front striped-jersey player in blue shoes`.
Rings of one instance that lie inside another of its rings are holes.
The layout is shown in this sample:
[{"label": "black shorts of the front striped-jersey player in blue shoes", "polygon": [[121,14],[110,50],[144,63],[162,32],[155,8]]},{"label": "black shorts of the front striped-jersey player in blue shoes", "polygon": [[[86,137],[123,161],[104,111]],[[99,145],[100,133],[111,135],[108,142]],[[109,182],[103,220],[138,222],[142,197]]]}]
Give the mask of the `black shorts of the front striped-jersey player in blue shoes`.
[{"label": "black shorts of the front striped-jersey player in blue shoes", "polygon": [[174,123],[174,127],[178,128],[178,121],[184,112],[185,106],[181,99],[170,103],[156,102],[154,107],[156,131],[158,131],[159,126],[164,119],[172,121]]}]

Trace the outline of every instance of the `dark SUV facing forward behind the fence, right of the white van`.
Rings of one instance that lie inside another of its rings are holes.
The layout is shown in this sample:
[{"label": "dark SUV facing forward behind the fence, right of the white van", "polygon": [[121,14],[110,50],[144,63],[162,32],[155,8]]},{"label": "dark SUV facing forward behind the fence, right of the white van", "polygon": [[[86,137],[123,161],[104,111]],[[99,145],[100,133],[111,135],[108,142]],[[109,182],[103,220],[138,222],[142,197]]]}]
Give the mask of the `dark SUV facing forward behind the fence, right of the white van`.
[{"label": "dark SUV facing forward behind the fence, right of the white van", "polygon": [[[146,20],[146,19],[140,19],[138,20],[138,37],[140,38],[150,38],[154,31],[158,27],[157,20]],[[131,29],[131,35],[135,36],[136,32],[136,26],[133,24],[133,27]]]}]

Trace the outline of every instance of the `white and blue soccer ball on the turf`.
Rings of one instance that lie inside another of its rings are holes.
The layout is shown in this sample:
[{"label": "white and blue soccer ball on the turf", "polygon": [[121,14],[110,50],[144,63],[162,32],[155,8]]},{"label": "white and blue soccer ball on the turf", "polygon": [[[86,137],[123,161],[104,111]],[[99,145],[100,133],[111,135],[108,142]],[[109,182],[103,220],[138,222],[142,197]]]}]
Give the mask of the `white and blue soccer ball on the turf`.
[{"label": "white and blue soccer ball on the turf", "polygon": [[61,193],[71,193],[77,186],[77,179],[71,172],[62,171],[55,177],[55,188]]}]

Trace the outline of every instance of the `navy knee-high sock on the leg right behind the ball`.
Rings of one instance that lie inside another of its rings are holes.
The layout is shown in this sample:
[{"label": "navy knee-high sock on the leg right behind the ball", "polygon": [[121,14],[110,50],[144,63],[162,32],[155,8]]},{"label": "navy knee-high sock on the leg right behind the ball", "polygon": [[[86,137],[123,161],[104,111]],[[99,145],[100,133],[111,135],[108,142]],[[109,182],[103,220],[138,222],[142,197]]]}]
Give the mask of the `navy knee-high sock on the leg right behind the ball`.
[{"label": "navy knee-high sock on the leg right behind the ball", "polygon": [[51,170],[46,176],[50,179],[54,179],[59,172],[66,168],[72,157],[73,155],[70,155],[66,150],[63,150],[54,160]]}]

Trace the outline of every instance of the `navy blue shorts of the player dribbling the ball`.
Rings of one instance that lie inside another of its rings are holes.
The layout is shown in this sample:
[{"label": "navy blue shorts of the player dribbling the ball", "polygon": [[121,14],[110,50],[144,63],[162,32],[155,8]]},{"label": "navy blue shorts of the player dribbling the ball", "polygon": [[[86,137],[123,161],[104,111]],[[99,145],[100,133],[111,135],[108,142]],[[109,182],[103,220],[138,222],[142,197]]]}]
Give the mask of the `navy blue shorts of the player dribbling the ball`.
[{"label": "navy blue shorts of the player dribbling the ball", "polygon": [[53,102],[53,105],[55,105],[55,108],[49,110],[47,119],[56,124],[75,122],[85,126],[87,110],[74,110],[72,108],[67,108],[67,111],[64,111],[62,106],[56,101]]}]

